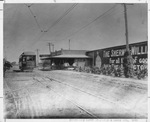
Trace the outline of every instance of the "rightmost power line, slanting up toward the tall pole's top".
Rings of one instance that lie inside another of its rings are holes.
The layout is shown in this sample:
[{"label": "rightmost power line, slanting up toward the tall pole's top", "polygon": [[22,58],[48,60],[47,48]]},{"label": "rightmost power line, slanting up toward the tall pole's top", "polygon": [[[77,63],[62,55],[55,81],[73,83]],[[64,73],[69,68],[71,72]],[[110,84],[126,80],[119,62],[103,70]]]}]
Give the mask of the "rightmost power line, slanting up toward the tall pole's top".
[{"label": "rightmost power line, slanting up toward the tall pole's top", "polygon": [[[83,26],[82,28],[80,28],[79,30],[77,30],[76,32],[74,32],[73,34],[69,35],[68,37],[71,37],[71,36],[75,35],[76,33],[78,33],[79,31],[83,30],[84,28],[86,28],[87,26],[89,26],[90,24],[92,24],[93,22],[95,22],[96,20],[98,20],[98,19],[104,17],[104,15],[105,15],[106,13],[108,13],[109,11],[111,11],[112,9],[114,9],[115,7],[116,7],[116,4],[115,4],[113,7],[111,7],[110,9],[108,9],[106,12],[104,12],[103,14],[101,14],[100,16],[98,16],[97,18],[95,18],[95,19],[94,19],[93,21],[91,21],[90,23],[86,24],[85,26]],[[66,37],[65,39],[67,39],[68,37]],[[64,40],[64,39],[63,39],[63,40]]]}]

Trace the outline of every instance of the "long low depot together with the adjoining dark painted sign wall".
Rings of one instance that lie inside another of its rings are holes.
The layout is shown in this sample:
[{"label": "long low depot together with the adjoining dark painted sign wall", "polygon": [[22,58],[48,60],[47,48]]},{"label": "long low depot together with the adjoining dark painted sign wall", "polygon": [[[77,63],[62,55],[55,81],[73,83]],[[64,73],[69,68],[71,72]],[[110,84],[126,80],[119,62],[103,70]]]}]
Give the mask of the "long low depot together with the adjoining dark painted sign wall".
[{"label": "long low depot together with the adjoining dark painted sign wall", "polygon": [[[148,42],[142,41],[129,44],[131,55],[134,60],[134,69],[139,70],[147,68]],[[97,49],[92,51],[87,50],[64,50],[52,52],[51,55],[40,55],[42,61],[47,61],[48,64],[53,63],[57,66],[66,64],[68,66],[76,66],[84,68],[102,66],[108,67],[114,65],[123,67],[123,58],[126,51],[126,45],[114,46],[109,48]]]}]

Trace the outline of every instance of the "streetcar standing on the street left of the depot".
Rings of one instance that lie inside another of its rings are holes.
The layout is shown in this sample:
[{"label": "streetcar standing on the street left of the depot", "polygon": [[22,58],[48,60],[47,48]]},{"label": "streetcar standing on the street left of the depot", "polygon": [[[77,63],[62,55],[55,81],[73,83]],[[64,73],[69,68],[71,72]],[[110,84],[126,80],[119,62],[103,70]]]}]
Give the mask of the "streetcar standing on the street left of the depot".
[{"label": "streetcar standing on the street left of the depot", "polygon": [[19,69],[21,71],[33,71],[36,67],[36,55],[34,52],[23,52],[19,57]]}]

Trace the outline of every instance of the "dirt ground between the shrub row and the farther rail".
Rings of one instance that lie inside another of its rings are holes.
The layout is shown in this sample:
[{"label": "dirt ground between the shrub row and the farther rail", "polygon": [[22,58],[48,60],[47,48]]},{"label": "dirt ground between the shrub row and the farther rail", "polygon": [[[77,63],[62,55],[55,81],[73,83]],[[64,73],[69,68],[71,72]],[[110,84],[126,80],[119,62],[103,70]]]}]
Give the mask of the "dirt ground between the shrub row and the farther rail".
[{"label": "dirt ground between the shrub row and the farther rail", "polygon": [[95,96],[102,96],[130,111],[135,111],[135,113],[147,115],[147,81],[72,71],[52,71],[48,74],[44,73],[44,75],[80,88]]}]

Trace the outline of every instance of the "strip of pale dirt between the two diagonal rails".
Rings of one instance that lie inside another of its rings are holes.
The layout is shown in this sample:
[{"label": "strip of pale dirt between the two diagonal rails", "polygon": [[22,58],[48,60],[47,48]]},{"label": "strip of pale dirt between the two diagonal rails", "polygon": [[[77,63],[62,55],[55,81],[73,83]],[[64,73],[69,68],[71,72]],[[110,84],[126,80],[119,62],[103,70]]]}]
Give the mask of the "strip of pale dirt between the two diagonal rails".
[{"label": "strip of pale dirt between the two diagonal rails", "polygon": [[[76,88],[74,86],[66,84],[62,81],[58,81],[56,79],[47,76],[46,77],[44,76],[43,78],[35,78],[35,79],[38,80],[38,82],[40,82],[41,84],[45,85],[45,87],[54,90],[54,92],[57,92],[64,98],[67,98],[70,101],[73,101],[74,103],[78,104],[79,106],[82,106],[82,108],[89,111],[89,113],[92,113],[96,118],[106,118],[110,116],[113,118],[119,118],[119,117],[137,118],[137,117],[145,116],[141,114],[139,115],[136,112],[132,112],[131,114],[129,113],[129,109],[126,108],[126,106],[124,107],[120,106],[117,103],[110,101],[104,97],[95,96],[91,93],[88,93],[86,91],[83,91],[80,88]],[[100,109],[98,109],[99,107]]]}]

